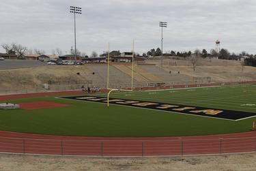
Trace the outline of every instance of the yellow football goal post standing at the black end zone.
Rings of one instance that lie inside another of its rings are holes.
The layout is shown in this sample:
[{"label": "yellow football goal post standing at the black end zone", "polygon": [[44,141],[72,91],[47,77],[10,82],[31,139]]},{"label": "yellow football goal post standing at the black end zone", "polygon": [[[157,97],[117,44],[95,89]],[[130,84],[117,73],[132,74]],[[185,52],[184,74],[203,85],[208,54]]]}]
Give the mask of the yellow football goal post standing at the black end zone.
[{"label": "yellow football goal post standing at the black end zone", "polygon": [[109,66],[110,66],[110,55],[109,55],[109,45],[108,45],[108,67],[107,67],[107,79],[106,79],[106,89],[109,90],[108,96],[107,96],[107,106],[109,106],[109,96],[113,91],[133,91],[133,74],[134,74],[134,40],[132,42],[132,76],[131,76],[131,88],[129,89],[111,89],[109,87]]}]

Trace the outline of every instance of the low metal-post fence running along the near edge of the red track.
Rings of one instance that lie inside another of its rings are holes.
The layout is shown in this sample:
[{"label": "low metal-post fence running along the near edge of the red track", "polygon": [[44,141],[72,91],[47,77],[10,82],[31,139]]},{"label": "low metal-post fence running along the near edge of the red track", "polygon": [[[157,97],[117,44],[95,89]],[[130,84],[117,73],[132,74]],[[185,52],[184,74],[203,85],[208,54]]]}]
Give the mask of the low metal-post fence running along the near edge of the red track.
[{"label": "low metal-post fence running along the near edge of the red track", "polygon": [[0,138],[0,153],[85,156],[183,156],[256,152],[256,137],[197,140]]}]

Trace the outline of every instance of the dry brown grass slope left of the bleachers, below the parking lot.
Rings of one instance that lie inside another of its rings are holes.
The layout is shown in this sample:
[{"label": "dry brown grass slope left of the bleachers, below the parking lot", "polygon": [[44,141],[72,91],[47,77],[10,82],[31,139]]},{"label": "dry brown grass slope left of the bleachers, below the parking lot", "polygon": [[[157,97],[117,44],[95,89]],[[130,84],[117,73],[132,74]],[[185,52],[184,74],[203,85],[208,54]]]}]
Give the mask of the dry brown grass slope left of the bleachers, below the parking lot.
[{"label": "dry brown grass slope left of the bleachers, below the parking lot", "polygon": [[61,66],[49,65],[42,67],[30,67],[23,69],[0,70],[1,89],[29,89],[30,87],[42,87],[49,80],[85,80],[83,75],[76,73],[91,72],[85,66]]}]

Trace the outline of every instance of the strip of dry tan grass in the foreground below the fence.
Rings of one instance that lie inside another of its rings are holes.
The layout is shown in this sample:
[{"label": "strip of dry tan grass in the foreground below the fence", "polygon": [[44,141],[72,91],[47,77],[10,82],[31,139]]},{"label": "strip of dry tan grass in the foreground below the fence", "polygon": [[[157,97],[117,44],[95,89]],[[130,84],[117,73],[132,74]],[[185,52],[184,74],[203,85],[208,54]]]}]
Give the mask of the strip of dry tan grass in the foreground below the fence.
[{"label": "strip of dry tan grass in the foreground below the fence", "polygon": [[0,155],[0,170],[256,170],[256,153],[201,157],[88,158]]}]

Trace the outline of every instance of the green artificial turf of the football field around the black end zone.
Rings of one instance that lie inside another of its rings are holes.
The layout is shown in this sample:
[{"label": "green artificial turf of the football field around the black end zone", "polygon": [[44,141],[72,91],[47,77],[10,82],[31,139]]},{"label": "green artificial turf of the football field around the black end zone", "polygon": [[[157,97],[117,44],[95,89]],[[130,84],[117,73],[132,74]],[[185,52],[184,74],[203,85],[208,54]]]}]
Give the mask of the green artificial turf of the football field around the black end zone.
[{"label": "green artificial turf of the football field around the black end zone", "polygon": [[[97,96],[105,97],[106,94]],[[173,89],[113,93],[111,97],[169,104],[185,104],[256,112],[256,85]],[[38,110],[0,110],[0,130],[33,134],[100,137],[201,136],[250,131],[255,118],[227,121],[173,112],[161,112],[78,102],[55,97],[10,100],[11,103],[48,101],[70,104],[69,107]]]}]

